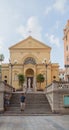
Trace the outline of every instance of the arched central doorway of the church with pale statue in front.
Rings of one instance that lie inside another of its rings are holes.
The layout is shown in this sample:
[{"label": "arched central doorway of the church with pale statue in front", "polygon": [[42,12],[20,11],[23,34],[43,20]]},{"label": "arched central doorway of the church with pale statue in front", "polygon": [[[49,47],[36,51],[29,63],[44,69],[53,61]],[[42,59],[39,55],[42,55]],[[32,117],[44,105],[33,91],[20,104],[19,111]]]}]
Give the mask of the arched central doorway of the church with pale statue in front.
[{"label": "arched central doorway of the church with pale statue in front", "polygon": [[27,88],[28,90],[33,90],[34,89],[34,71],[33,69],[27,69],[26,70],[26,79],[27,79]]}]

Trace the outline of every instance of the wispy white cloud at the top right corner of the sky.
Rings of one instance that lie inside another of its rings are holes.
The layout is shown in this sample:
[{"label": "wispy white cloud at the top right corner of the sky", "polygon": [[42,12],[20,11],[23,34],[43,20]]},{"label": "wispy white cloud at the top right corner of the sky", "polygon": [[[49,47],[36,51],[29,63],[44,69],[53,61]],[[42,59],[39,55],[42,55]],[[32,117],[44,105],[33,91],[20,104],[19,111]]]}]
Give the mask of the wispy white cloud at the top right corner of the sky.
[{"label": "wispy white cloud at the top right corner of the sky", "polygon": [[63,14],[67,10],[67,2],[68,0],[55,0],[51,6],[46,7],[45,14],[48,15],[52,10],[59,11]]}]

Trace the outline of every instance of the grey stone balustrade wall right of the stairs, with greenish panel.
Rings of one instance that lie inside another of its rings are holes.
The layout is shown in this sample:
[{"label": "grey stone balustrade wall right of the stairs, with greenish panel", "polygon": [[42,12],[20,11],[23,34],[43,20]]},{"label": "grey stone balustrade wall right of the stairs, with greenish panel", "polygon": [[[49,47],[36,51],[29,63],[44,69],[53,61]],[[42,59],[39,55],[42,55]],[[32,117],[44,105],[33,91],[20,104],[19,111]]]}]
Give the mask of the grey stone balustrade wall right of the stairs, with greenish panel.
[{"label": "grey stone balustrade wall right of the stairs, with greenish panel", "polygon": [[64,105],[64,95],[69,95],[69,82],[53,81],[46,88],[46,96],[53,112],[69,113],[69,106]]}]

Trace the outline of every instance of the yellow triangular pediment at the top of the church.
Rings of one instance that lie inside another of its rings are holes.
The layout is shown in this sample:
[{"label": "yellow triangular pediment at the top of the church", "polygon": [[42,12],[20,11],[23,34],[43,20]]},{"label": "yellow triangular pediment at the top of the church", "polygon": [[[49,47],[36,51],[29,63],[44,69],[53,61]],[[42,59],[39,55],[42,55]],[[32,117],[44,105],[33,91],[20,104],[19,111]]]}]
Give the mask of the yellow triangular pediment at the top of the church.
[{"label": "yellow triangular pediment at the top of the church", "polygon": [[46,48],[51,49],[51,47],[47,46],[46,44],[32,38],[29,36],[25,40],[20,41],[19,43],[11,46],[9,49],[39,49],[39,48]]}]

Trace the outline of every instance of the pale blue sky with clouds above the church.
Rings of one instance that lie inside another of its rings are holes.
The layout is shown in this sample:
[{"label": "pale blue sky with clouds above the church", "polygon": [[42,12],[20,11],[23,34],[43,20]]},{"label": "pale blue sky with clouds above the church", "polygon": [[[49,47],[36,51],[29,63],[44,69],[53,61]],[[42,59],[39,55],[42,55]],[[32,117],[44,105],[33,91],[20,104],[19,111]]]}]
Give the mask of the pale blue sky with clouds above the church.
[{"label": "pale blue sky with clouds above the church", "polygon": [[31,35],[52,47],[51,62],[64,67],[63,29],[69,19],[69,0],[0,0],[0,54]]}]

